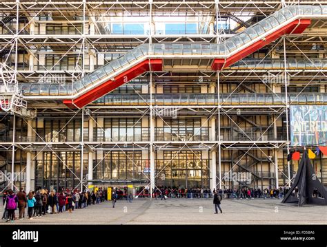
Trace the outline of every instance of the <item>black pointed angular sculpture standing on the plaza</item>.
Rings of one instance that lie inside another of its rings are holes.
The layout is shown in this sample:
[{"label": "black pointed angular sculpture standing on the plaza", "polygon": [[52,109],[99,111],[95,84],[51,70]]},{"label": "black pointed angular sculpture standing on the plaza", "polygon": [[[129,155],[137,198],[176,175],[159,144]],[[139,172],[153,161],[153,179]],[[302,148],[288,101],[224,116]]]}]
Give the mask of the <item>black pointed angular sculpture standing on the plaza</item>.
[{"label": "black pointed angular sculpture standing on the plaza", "polygon": [[[293,195],[295,188],[299,190],[299,197]],[[314,189],[320,193],[320,198],[313,197]],[[327,205],[326,188],[317,178],[306,151],[302,155],[295,181],[281,203],[298,203],[299,206],[304,204]]]}]

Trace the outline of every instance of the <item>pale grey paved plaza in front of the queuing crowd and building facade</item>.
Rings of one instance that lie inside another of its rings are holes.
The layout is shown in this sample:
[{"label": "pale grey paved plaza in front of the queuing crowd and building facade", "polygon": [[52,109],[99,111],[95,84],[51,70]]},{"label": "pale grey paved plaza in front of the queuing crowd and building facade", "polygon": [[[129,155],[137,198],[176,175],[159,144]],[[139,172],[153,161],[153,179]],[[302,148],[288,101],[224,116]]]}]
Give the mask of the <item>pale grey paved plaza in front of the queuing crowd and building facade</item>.
[{"label": "pale grey paved plaza in front of the queuing crowd and building facade", "polygon": [[[291,206],[278,199],[223,200],[214,214],[212,200],[119,200],[75,210],[0,224],[327,224],[327,206]],[[17,211],[16,211],[17,212]],[[0,207],[2,216],[3,206]],[[27,215],[27,212],[26,212]]]}]

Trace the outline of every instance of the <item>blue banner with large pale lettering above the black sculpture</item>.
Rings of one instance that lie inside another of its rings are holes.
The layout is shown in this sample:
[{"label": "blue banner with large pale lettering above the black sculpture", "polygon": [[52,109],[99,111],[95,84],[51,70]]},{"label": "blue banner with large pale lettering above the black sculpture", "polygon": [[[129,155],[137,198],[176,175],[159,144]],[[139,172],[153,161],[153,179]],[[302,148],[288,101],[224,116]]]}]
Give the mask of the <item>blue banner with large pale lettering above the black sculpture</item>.
[{"label": "blue banner with large pale lettering above the black sculpture", "polygon": [[290,141],[293,146],[326,145],[327,106],[290,106]]}]

